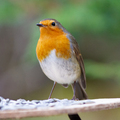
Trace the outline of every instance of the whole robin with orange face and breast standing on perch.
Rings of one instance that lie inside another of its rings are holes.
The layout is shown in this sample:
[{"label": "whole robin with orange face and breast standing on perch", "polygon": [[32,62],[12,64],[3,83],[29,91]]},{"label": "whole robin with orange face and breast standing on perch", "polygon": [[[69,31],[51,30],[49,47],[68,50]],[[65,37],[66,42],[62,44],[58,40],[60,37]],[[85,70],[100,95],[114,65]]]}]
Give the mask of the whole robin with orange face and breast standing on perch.
[{"label": "whole robin with orange face and breast standing on perch", "polygon": [[87,99],[83,58],[75,38],[55,19],[41,20],[36,54],[45,75],[64,87],[72,85],[72,99]]}]

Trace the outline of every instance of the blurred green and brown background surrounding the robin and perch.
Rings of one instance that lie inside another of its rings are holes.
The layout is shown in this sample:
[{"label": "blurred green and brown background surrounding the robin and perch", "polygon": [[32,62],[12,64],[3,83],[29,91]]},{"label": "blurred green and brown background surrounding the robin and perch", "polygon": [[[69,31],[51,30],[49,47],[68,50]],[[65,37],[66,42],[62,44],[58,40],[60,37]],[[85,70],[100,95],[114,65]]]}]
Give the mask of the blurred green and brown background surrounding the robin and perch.
[{"label": "blurred green and brown background surrounding the robin and perch", "polygon": [[[77,40],[89,99],[120,97],[119,0],[0,0],[0,96],[47,99],[53,82],[36,58],[44,18],[57,19]],[[53,98],[72,98],[57,84]],[[80,113],[83,120],[119,120],[120,109]],[[23,120],[69,120],[67,115]]]}]

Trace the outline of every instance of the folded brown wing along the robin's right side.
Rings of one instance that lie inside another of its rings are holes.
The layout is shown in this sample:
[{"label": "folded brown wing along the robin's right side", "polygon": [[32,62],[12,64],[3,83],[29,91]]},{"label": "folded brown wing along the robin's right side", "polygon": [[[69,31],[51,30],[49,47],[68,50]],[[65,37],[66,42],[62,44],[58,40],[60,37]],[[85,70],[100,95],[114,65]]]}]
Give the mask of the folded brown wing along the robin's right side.
[{"label": "folded brown wing along the robin's right side", "polygon": [[86,75],[85,75],[85,68],[84,68],[84,62],[83,62],[83,58],[82,58],[82,55],[80,53],[80,50],[79,50],[79,46],[75,40],[75,38],[68,34],[67,37],[69,38],[69,40],[71,41],[71,49],[72,49],[72,53],[75,55],[79,65],[80,65],[80,68],[81,68],[81,83],[82,83],[82,86],[84,88],[86,88]]}]

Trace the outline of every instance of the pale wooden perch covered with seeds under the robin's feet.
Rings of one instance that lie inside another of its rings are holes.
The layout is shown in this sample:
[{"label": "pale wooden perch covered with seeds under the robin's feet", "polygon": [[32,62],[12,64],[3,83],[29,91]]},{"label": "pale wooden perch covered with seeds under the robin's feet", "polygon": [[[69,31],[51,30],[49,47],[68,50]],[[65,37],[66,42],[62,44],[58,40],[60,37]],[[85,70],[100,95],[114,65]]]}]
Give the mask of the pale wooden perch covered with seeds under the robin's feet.
[{"label": "pale wooden perch covered with seeds under the robin's feet", "polygon": [[[6,99],[4,99],[6,100]],[[107,110],[120,107],[120,98],[90,100],[33,100],[0,101],[0,118],[43,117],[60,114],[75,114],[88,111]],[[13,103],[12,103],[13,102]],[[21,107],[20,107],[21,106]]]}]

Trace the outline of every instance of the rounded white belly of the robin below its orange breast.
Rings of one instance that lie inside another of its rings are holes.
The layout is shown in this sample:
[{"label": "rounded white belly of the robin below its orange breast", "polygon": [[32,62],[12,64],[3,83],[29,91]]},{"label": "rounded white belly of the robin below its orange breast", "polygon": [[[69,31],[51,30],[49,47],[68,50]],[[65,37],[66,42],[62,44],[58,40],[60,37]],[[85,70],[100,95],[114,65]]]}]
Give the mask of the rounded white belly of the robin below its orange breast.
[{"label": "rounded white belly of the robin below its orange breast", "polygon": [[80,67],[76,58],[57,58],[55,50],[52,50],[49,57],[40,62],[45,75],[60,84],[71,84],[80,77]]}]

